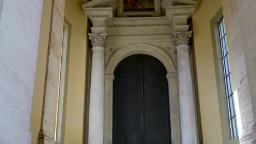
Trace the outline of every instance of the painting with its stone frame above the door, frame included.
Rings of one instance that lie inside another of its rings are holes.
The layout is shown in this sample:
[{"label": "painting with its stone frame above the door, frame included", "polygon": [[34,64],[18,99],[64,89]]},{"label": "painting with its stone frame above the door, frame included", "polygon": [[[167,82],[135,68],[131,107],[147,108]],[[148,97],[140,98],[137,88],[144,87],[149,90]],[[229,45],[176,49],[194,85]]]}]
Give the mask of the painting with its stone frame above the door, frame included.
[{"label": "painting with its stone frame above the door, frame included", "polygon": [[118,0],[118,16],[159,16],[159,0]]}]

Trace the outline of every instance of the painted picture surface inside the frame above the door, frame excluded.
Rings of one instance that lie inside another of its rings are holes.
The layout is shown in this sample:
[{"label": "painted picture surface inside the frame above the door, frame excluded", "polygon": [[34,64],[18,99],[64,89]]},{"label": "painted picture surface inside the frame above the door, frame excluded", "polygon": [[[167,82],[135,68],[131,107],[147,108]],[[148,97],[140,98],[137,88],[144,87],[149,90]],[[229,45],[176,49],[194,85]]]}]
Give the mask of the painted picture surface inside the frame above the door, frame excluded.
[{"label": "painted picture surface inside the frame above the door, frame excluded", "polygon": [[154,11],[154,0],[123,0],[124,11]]}]

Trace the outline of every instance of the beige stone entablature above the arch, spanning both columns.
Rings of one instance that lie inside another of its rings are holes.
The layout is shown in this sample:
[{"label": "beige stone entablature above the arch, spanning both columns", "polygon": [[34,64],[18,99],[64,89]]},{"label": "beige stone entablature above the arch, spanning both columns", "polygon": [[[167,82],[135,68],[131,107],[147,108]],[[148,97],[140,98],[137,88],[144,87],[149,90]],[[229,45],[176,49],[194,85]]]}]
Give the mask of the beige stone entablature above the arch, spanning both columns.
[{"label": "beige stone entablature above the arch, spanning both columns", "polygon": [[[187,19],[195,8],[196,5],[168,6],[166,16],[158,17],[113,17],[113,8],[83,7],[83,10],[92,22],[92,33],[108,34],[108,45],[105,47],[105,62],[108,63],[115,51],[132,44],[154,45],[174,58],[173,32],[188,31]],[[182,43],[182,40],[183,44],[188,44],[185,39],[175,41]],[[97,40],[94,43],[93,46],[103,46]]]}]

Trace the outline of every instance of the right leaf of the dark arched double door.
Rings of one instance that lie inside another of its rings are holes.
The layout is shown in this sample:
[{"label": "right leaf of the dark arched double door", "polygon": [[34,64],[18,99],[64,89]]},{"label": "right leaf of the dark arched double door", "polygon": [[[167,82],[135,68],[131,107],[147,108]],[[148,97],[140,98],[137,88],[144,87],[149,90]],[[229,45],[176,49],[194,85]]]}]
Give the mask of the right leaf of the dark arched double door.
[{"label": "right leaf of the dark arched double door", "polygon": [[143,57],[145,143],[170,143],[168,89],[162,63]]}]

